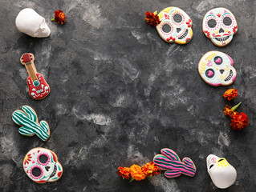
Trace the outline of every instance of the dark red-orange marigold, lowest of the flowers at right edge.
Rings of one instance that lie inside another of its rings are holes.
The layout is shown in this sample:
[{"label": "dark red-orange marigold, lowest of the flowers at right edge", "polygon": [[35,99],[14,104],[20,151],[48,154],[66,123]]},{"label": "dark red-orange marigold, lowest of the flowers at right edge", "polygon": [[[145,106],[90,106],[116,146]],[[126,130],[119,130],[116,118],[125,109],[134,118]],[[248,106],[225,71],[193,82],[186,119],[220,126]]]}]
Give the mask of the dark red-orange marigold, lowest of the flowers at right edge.
[{"label": "dark red-orange marigold, lowest of the flowers at right edge", "polygon": [[231,124],[233,130],[242,130],[249,124],[249,119],[246,114],[244,113],[238,113],[235,114],[231,119]]}]

